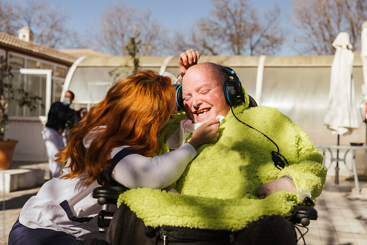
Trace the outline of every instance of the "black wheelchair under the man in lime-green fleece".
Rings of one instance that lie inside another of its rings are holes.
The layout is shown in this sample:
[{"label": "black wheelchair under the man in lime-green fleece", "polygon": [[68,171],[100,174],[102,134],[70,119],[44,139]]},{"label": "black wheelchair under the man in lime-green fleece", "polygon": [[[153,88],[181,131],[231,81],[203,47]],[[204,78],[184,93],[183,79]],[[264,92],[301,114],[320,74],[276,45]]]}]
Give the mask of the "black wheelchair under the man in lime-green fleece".
[{"label": "black wheelchair under the man in lime-green fleece", "polygon": [[[254,98],[252,98],[251,96],[249,96],[250,98],[250,104],[249,107],[257,107],[257,103],[254,100]],[[113,215],[115,214],[115,212],[110,212],[109,211],[109,206],[110,205],[116,205],[117,202],[117,198],[119,197],[120,194],[122,194],[123,192],[125,192],[127,190],[126,187],[124,186],[111,186],[111,187],[97,187],[93,190],[93,194],[92,197],[93,198],[97,198],[98,199],[98,204],[102,206],[101,211],[98,213],[98,227],[99,227],[99,232],[101,233],[105,233],[106,229],[109,227],[109,224],[113,218]],[[312,206],[314,206],[314,203],[312,202],[312,200],[310,198],[305,198],[304,202],[302,202],[301,205],[295,207],[294,212],[292,213],[291,217],[289,217],[289,221],[291,221],[294,225],[297,224],[301,224],[300,226],[306,227],[309,225],[310,220],[316,220],[317,219],[317,211],[315,208],[313,208]],[[163,227],[163,229],[162,229]],[[167,236],[165,234],[165,230],[170,230],[170,228],[174,228],[174,227],[165,227],[162,226],[160,228],[160,230],[158,231],[160,233],[159,237],[160,239],[157,240],[157,245],[182,245],[182,244],[187,244],[187,245],[191,245],[191,244],[211,244],[214,245],[215,244],[235,244],[234,241],[234,235],[233,233],[228,233],[228,242],[222,242],[222,241],[215,241],[213,243],[213,240],[211,241],[193,241],[195,239],[190,239],[192,237],[189,237],[187,239],[187,241],[185,243],[183,242],[177,242],[177,241],[169,241],[167,239]],[[191,230],[190,228],[183,228],[186,230]],[[297,228],[298,229],[298,228]],[[299,231],[299,229],[298,229]],[[218,231],[220,232],[220,231]],[[209,231],[208,234],[203,234],[203,236],[207,235],[210,236],[213,233],[217,233],[217,231]],[[303,235],[301,233],[301,231],[299,231],[299,233],[301,234],[301,237],[303,238]],[[188,233],[190,234],[190,233]],[[167,239],[167,241],[166,241]],[[190,241],[191,240],[191,241]],[[220,239],[219,239],[220,240]],[[304,239],[303,239],[304,241]],[[305,243],[305,241],[304,241]]]}]

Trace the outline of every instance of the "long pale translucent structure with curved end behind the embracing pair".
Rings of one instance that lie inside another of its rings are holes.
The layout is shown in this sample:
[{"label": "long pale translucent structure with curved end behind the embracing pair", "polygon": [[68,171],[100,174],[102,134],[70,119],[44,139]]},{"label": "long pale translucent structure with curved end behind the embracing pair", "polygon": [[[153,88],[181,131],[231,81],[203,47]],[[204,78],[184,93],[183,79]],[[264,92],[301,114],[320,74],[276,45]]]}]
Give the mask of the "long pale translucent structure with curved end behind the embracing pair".
[{"label": "long pale translucent structure with curved end behind the embracing pair", "polygon": [[[219,62],[234,69],[244,87],[258,105],[275,107],[297,123],[315,144],[337,144],[337,136],[323,124],[328,104],[330,71],[333,55],[314,56],[201,56],[200,62]],[[178,57],[139,57],[140,69],[170,72],[177,75]],[[90,109],[102,100],[111,84],[119,76],[131,72],[128,56],[80,57],[70,67],[61,98],[67,90],[75,93],[73,108]],[[364,96],[362,61],[355,55],[353,63],[355,106],[358,111]],[[360,115],[359,129],[340,137],[340,144],[366,144],[366,124]],[[42,142],[37,143],[40,145]],[[17,149],[20,151],[21,149]],[[344,154],[344,153],[342,153]],[[351,154],[350,154],[351,155]],[[367,175],[366,151],[357,151],[359,174]],[[330,156],[327,155],[327,158]],[[351,158],[351,156],[348,156]],[[347,158],[347,160],[348,160]],[[47,158],[45,159],[47,161]],[[350,161],[347,161],[348,163]],[[340,165],[340,164],[339,164]],[[351,169],[351,166],[348,165]],[[334,167],[328,168],[332,174]],[[348,175],[341,169],[340,174]]]}]

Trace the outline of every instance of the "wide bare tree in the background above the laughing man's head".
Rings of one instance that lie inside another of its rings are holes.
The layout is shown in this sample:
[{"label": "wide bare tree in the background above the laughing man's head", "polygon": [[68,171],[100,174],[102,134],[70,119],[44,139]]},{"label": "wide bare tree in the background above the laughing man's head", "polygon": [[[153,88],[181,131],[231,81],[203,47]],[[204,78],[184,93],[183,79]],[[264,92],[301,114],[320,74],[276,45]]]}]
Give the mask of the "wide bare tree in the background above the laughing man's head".
[{"label": "wide bare tree in the background above the laughing man's head", "polygon": [[195,47],[205,54],[258,55],[273,54],[283,44],[277,6],[261,13],[249,0],[212,4],[214,9],[196,21],[189,35],[175,33],[174,50]]}]

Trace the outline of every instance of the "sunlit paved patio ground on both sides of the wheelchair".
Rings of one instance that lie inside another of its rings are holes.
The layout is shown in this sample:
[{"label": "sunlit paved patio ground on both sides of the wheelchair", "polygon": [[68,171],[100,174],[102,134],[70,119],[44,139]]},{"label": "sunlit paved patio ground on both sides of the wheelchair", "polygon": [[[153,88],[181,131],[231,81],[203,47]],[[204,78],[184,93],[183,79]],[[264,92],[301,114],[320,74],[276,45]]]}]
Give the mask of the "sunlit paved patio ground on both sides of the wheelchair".
[{"label": "sunlit paved patio ground on both sides of the wheelchair", "polygon": [[[47,163],[39,164],[46,168]],[[18,166],[25,167],[25,166]],[[331,180],[330,180],[331,181]],[[341,184],[354,186],[353,181]],[[316,209],[319,218],[312,220],[304,236],[308,245],[366,245],[367,244],[367,181],[360,181],[361,194],[352,192],[323,191],[317,198]],[[17,219],[23,204],[37,193],[40,187],[6,194],[5,227],[0,244],[7,244],[8,234]],[[305,228],[301,228],[304,233]],[[302,239],[298,244],[303,244]]]}]

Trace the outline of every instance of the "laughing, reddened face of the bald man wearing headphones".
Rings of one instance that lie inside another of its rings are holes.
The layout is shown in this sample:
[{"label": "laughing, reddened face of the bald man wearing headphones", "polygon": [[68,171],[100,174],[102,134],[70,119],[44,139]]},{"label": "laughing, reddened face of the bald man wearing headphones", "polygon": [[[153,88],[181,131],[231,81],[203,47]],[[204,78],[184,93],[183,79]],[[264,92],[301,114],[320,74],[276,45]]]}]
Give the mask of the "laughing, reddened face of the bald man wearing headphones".
[{"label": "laughing, reddened face of the bald man wearing headphones", "polygon": [[214,63],[200,63],[186,71],[182,80],[183,105],[186,116],[193,123],[228,114],[230,107],[224,98],[224,79]]}]

